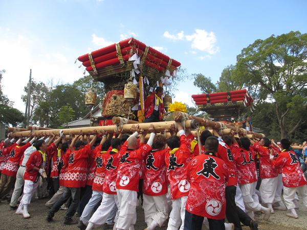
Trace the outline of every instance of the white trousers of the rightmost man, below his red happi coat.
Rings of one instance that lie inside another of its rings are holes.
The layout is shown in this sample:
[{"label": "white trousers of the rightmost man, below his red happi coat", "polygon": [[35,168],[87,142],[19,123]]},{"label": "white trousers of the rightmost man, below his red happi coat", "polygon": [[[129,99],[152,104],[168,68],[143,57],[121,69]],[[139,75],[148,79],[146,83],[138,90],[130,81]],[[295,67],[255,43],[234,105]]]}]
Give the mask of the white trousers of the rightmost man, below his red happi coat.
[{"label": "white trousers of the rightmost man, below his red happi coat", "polygon": [[300,194],[302,197],[303,205],[307,208],[307,186],[300,187],[283,187],[283,200],[287,206],[287,209],[294,209],[295,204],[293,203],[293,199],[295,197],[296,192]]}]

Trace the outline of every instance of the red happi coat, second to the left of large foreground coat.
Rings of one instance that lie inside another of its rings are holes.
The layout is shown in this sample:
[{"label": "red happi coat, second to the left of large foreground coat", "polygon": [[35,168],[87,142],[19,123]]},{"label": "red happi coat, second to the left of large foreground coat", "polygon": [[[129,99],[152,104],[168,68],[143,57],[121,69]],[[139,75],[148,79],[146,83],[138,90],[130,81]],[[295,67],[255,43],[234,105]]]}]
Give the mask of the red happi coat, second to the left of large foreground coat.
[{"label": "red happi coat, second to the left of large foreground coat", "polygon": [[167,193],[165,154],[168,150],[151,150],[145,157],[143,193],[147,196],[161,196]]}]

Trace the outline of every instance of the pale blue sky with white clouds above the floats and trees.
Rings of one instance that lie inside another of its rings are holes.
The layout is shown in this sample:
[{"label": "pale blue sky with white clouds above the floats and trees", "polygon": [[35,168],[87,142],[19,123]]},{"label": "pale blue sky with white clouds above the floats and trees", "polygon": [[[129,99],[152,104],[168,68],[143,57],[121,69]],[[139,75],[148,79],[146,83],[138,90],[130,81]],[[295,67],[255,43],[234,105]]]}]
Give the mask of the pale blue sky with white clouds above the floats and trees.
[{"label": "pale blue sky with white clouds above the floats and trees", "polygon": [[[0,1],[0,69],[4,93],[20,100],[32,68],[36,81],[72,82],[75,59],[134,36],[180,61],[189,74],[217,81],[223,68],[256,39],[306,33],[307,1]],[[176,100],[200,90],[182,82]]]}]

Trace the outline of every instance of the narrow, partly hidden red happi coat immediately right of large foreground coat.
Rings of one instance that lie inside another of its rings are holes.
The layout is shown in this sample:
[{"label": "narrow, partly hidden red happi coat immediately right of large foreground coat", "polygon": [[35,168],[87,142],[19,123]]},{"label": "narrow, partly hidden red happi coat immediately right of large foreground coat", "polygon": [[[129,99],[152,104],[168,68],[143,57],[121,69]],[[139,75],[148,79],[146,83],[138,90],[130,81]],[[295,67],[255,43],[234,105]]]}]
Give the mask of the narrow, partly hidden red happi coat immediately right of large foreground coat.
[{"label": "narrow, partly hidden red happi coat immediately right of large foreground coat", "polygon": [[218,144],[216,155],[217,157],[224,160],[225,164],[227,165],[228,175],[229,175],[227,186],[236,186],[238,183],[238,178],[235,171],[233,155],[231,153],[229,146],[226,145],[224,142],[220,141]]}]

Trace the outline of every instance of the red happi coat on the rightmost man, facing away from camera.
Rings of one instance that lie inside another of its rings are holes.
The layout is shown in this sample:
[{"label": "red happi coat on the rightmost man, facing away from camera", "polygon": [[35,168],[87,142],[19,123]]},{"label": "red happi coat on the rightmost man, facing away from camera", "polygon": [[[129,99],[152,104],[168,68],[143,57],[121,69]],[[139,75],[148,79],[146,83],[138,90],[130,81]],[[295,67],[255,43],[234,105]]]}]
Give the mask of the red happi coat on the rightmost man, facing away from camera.
[{"label": "red happi coat on the rightmost man, facing away from camera", "polygon": [[293,151],[283,151],[271,160],[273,167],[281,168],[283,186],[294,188],[306,185],[306,178]]}]

